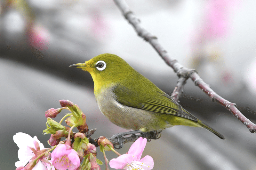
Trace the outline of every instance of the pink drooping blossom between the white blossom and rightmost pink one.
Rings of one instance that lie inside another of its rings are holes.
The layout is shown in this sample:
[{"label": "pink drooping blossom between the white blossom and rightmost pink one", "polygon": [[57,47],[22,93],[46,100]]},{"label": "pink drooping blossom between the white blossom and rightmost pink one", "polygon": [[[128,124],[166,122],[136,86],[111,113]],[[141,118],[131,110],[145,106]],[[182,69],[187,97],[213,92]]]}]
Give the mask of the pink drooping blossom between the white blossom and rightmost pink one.
[{"label": "pink drooping blossom between the white blossom and rightmost pink one", "polygon": [[59,144],[52,151],[52,164],[59,170],[75,170],[80,166],[78,153],[69,145]]}]

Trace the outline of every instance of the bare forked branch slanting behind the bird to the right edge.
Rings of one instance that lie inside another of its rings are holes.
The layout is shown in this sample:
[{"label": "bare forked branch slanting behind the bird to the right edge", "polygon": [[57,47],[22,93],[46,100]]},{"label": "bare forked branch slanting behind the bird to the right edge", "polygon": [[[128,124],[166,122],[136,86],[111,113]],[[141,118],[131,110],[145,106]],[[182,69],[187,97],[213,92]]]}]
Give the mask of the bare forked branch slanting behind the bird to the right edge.
[{"label": "bare forked branch slanting behind the bird to the right edge", "polygon": [[153,48],[155,48],[156,52],[162,57],[165,63],[172,67],[174,72],[179,76],[179,80],[177,85],[172,93],[172,97],[174,100],[179,100],[183,92],[183,87],[188,78],[191,78],[194,81],[195,85],[204,91],[209,97],[211,97],[212,101],[217,101],[222,106],[226,107],[238,120],[240,120],[250,132],[256,132],[256,125],[253,124],[248,118],[246,118],[237,108],[235,103],[230,103],[226,99],[222,98],[218,94],[216,94],[208,84],[206,84],[200,76],[196,73],[194,69],[188,69],[183,67],[178,61],[167,53],[163,46],[158,42],[156,36],[152,35],[145,28],[143,28],[140,24],[140,19],[133,14],[130,10],[128,4],[124,0],[114,0],[120,11],[122,11],[124,17],[129,21],[129,23],[134,27],[135,31],[138,35],[146,40]]}]

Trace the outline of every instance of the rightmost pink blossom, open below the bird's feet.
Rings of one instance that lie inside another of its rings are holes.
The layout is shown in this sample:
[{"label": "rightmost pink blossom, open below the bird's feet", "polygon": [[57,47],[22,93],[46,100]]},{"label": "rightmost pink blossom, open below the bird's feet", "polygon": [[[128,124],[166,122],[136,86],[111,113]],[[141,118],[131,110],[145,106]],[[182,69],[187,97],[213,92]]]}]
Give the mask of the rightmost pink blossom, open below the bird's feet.
[{"label": "rightmost pink blossom, open below the bird's feet", "polygon": [[151,156],[141,158],[142,152],[146,146],[147,139],[138,138],[130,147],[128,153],[123,154],[116,159],[109,161],[109,166],[115,169],[144,169],[150,170],[154,167],[154,160]]}]

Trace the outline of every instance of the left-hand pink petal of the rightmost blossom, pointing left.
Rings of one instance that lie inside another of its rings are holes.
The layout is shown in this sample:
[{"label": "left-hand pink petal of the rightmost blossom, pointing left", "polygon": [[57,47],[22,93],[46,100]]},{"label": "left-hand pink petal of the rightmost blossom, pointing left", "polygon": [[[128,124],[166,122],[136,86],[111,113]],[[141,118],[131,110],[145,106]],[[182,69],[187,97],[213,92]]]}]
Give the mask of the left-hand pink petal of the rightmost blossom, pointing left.
[{"label": "left-hand pink petal of the rightmost blossom, pointing left", "polygon": [[109,161],[109,166],[115,169],[124,169],[124,167],[127,164],[132,162],[132,159],[133,159],[133,156],[131,154],[123,154],[117,158],[111,159]]}]

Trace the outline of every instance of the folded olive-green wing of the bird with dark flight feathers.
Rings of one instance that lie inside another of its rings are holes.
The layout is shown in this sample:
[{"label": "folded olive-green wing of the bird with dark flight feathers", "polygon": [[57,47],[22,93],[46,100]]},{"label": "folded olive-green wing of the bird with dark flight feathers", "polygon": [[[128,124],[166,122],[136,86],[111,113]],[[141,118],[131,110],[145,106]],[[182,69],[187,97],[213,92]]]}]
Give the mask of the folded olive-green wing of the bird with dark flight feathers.
[{"label": "folded olive-green wing of the bird with dark flight feathers", "polygon": [[[196,122],[198,121],[196,117],[189,114],[179,103],[157,88],[153,83],[149,85],[150,87],[145,84],[144,88],[136,89],[136,87],[132,88],[134,86],[129,88],[117,84],[114,87],[113,92],[116,95],[116,101],[122,105],[158,113],[171,114]],[[154,87],[152,85],[154,85]]]}]

